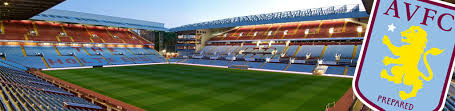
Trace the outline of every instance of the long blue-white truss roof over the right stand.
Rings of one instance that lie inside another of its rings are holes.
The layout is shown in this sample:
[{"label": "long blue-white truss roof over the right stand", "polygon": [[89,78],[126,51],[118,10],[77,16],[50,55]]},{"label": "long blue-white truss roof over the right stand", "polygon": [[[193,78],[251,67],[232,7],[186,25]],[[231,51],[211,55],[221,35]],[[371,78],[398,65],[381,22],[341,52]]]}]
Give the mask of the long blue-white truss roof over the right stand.
[{"label": "long blue-white truss roof over the right stand", "polygon": [[338,18],[360,18],[368,16],[369,15],[366,13],[364,9],[361,10],[359,4],[355,4],[233,17],[221,20],[183,25],[180,27],[171,28],[169,29],[169,31],[176,32],[185,30],[224,28],[297,21],[327,20]]}]

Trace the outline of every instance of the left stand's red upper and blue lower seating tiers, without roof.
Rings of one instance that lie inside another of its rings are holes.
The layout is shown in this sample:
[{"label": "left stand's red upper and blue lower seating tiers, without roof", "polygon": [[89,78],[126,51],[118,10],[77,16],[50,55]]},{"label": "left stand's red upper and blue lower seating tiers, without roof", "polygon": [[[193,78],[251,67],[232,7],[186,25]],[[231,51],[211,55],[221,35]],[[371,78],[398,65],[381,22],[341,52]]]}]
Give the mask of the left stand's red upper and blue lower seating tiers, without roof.
[{"label": "left stand's red upper and blue lower seating tiers, without roof", "polygon": [[123,28],[31,20],[2,21],[2,26],[0,40],[14,40],[1,43],[3,58],[28,68],[165,62],[148,48],[151,42]]}]

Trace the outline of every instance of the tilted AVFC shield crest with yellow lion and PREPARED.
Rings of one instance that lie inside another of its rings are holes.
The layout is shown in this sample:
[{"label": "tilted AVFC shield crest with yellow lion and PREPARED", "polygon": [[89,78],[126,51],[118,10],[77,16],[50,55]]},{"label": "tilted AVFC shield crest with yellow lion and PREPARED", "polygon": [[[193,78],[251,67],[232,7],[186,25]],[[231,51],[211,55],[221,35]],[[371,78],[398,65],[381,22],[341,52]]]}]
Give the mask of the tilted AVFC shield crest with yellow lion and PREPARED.
[{"label": "tilted AVFC shield crest with yellow lion and PREPARED", "polygon": [[455,7],[377,0],[353,86],[377,110],[443,108],[454,58]]}]

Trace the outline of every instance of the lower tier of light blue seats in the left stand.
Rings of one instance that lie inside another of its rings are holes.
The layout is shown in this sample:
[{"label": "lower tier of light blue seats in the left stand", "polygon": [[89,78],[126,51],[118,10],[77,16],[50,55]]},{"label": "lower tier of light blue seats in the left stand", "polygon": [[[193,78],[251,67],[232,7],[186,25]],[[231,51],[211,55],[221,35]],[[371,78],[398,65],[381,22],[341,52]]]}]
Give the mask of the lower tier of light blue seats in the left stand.
[{"label": "lower tier of light blue seats in the left stand", "polygon": [[30,68],[63,68],[165,62],[151,48],[0,46],[3,59]]}]

